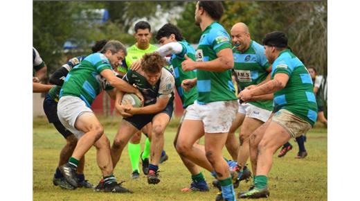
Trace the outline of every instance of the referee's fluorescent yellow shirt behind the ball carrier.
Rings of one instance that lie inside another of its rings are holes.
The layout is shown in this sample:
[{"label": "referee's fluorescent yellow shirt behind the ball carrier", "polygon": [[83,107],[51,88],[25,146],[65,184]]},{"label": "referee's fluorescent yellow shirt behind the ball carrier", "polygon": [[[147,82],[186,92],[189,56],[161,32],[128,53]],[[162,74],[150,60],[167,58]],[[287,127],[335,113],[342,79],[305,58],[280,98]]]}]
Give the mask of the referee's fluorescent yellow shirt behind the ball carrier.
[{"label": "referee's fluorescent yellow shirt behind the ball carrier", "polygon": [[152,52],[156,51],[156,49],[157,49],[157,46],[154,46],[153,44],[149,44],[149,47],[145,50],[138,49],[136,44],[129,46],[126,49],[127,55],[125,57],[125,65],[123,67],[118,67],[118,71],[120,71],[122,73],[126,73],[127,70],[129,69],[129,67],[132,65],[132,62],[143,58],[143,55],[145,55],[145,53],[152,53]]}]

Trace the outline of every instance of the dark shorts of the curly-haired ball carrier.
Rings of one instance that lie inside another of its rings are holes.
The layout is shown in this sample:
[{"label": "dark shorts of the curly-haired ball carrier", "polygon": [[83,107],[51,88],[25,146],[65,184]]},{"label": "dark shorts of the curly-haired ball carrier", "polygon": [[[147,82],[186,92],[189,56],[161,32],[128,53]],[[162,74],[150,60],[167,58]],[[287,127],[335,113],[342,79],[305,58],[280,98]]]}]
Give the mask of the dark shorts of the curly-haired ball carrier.
[{"label": "dark shorts of the curly-haired ball carrier", "polygon": [[[157,114],[165,113],[168,114],[168,116],[171,119],[172,112],[174,111],[174,104],[171,101],[166,105],[165,109]],[[152,119],[154,118],[156,114],[135,114],[134,116],[125,117],[124,120],[128,121],[132,125],[134,125],[135,128],[138,130],[141,130],[147,123],[150,123]]]}]

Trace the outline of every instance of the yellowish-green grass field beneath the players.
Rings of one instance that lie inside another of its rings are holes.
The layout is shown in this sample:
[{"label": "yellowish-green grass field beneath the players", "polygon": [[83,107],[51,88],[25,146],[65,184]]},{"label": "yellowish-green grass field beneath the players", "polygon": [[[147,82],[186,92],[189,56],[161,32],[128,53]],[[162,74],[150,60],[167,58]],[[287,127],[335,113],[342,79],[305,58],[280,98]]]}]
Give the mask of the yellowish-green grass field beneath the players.
[{"label": "yellowish-green grass field beneath the players", "polygon": [[[111,143],[118,128],[118,119],[100,119]],[[147,184],[141,175],[132,180],[132,172],[127,148],[114,170],[118,181],[125,180],[123,186],[134,191],[133,194],[97,193],[91,189],[63,190],[53,186],[52,178],[57,166],[59,152],[64,146],[63,137],[46,119],[33,121],[33,200],[215,200],[217,189],[211,186],[210,192],[181,192],[190,185],[190,173],[181,163],[181,159],[172,146],[179,119],[174,119],[165,131],[165,150],[168,161],[160,165],[161,182]],[[143,146],[144,138],[142,139]],[[203,142],[203,141],[201,141]],[[308,156],[294,159],[297,144],[291,139],[294,149],[283,158],[273,157],[273,167],[269,174],[270,198],[267,200],[327,200],[327,130],[316,125],[307,134]],[[229,157],[226,149],[224,156]],[[141,166],[141,165],[140,165]],[[141,168],[141,167],[140,167]],[[213,181],[210,173],[202,170],[209,186]],[[87,180],[97,184],[101,178],[96,164],[96,150],[91,148],[86,155],[84,171]],[[240,183],[241,191],[249,188],[251,182]],[[240,189],[235,189],[236,193]],[[260,199],[261,200],[261,199]],[[266,199],[264,199],[266,200]]]}]

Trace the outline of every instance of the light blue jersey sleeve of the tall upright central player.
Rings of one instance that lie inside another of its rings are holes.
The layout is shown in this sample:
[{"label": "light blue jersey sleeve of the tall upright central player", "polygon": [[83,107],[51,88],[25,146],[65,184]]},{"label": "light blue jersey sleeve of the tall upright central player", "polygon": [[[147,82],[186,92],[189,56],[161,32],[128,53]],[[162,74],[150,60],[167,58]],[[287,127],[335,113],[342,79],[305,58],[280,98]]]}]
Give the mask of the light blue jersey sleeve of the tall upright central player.
[{"label": "light blue jersey sleeve of the tall upright central player", "polygon": [[215,30],[210,32],[208,40],[208,44],[212,44],[213,50],[216,53],[219,53],[219,51],[222,51],[223,49],[231,49],[231,40],[225,30]]}]

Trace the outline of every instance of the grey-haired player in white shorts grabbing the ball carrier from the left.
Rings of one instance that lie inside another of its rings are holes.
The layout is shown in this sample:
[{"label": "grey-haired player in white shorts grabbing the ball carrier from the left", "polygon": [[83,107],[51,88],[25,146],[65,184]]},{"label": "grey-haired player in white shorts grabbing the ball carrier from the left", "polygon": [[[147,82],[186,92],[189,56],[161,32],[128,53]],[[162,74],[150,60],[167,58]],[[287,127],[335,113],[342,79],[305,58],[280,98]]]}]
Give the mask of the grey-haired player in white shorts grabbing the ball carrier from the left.
[{"label": "grey-haired player in white shorts grabbing the ball carrier from the left", "polygon": [[109,139],[91,110],[91,103],[102,90],[102,78],[116,89],[134,93],[143,100],[143,95],[138,89],[114,75],[112,67],[118,67],[125,55],[125,46],[111,40],[105,44],[100,53],[93,53],[84,58],[64,79],[64,85],[60,89],[60,100],[57,103],[57,116],[62,125],[78,138],[73,155],[66,164],[60,166],[62,175],[71,186],[78,187],[76,169],[79,161],[91,146],[95,146],[98,166],[105,181],[104,191],[131,192],[116,182]]}]

